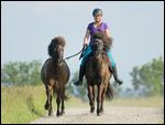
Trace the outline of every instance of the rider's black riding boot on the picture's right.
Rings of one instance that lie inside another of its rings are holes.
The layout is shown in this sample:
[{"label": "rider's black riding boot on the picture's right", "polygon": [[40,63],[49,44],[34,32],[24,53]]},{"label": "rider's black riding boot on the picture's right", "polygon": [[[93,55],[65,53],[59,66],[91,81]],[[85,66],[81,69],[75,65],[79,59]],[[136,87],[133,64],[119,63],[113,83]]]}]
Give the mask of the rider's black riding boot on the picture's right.
[{"label": "rider's black riding boot on the picture's right", "polygon": [[123,83],[123,81],[119,79],[119,75],[117,72],[117,66],[116,65],[114,66],[109,65],[109,67],[110,67],[110,71],[112,72],[112,74],[114,76],[116,82],[119,83],[119,85],[121,85]]}]

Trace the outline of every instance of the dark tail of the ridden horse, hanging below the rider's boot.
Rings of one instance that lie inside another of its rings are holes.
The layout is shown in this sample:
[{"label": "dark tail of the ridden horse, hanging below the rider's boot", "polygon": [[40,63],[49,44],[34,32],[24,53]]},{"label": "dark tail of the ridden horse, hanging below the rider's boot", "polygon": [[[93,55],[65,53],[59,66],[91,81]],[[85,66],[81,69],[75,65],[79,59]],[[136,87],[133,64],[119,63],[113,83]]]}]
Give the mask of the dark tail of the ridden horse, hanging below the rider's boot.
[{"label": "dark tail of the ridden horse, hanging below the rider's boot", "polygon": [[110,85],[110,82],[108,82],[108,86],[107,86],[107,91],[106,91],[106,98],[108,101],[113,98],[113,90],[112,90],[112,87]]}]

